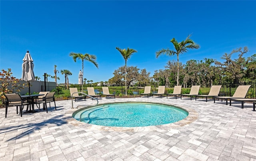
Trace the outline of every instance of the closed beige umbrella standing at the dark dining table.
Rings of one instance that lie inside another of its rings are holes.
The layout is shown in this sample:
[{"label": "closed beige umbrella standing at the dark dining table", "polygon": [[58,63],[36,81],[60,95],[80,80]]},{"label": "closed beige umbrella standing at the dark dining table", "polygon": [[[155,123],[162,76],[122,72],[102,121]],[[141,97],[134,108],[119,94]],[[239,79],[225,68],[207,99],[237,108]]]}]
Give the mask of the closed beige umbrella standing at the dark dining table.
[{"label": "closed beige umbrella standing at the dark dining table", "polygon": [[21,80],[28,82],[28,92],[30,95],[30,82],[35,80],[35,75],[33,71],[34,63],[29,51],[27,51],[25,57],[22,60],[23,60],[23,63],[22,63]]}]

